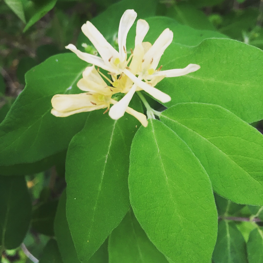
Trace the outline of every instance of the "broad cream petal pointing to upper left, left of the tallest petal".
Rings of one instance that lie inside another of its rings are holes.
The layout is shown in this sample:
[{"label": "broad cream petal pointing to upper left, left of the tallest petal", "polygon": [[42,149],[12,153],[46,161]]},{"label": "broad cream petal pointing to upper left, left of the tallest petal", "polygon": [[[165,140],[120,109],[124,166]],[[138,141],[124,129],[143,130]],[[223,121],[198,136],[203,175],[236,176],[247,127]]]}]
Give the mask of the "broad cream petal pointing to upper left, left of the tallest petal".
[{"label": "broad cream petal pointing to upper left, left of the tallest petal", "polygon": [[100,56],[104,60],[105,64],[109,65],[109,58],[118,58],[119,53],[116,49],[109,44],[109,42],[103,37],[96,27],[93,26],[89,21],[86,22],[82,27],[82,32],[98,50]]}]

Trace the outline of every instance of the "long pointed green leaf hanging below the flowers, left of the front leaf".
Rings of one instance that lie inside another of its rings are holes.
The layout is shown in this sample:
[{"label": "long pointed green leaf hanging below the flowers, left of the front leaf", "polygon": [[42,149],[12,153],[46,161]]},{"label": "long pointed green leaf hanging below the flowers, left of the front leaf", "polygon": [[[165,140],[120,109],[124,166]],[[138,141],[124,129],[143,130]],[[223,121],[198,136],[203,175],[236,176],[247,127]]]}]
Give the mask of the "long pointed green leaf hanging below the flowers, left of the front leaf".
[{"label": "long pointed green leaf hanging below the flowers, left of the front leaf", "polygon": [[[136,105],[141,109],[138,100]],[[137,125],[126,113],[113,120],[99,110],[70,142],[67,219],[80,261],[94,254],[129,209],[129,153]]]}]

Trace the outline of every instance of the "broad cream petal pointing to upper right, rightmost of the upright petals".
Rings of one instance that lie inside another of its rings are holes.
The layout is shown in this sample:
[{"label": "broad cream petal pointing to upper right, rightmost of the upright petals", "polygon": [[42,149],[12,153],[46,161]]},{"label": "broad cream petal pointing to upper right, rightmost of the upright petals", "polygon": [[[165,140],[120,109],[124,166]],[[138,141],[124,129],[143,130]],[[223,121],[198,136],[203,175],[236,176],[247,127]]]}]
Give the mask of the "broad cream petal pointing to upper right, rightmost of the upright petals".
[{"label": "broad cream petal pointing to upper right, rightmost of the upright petals", "polygon": [[144,55],[144,65],[149,65],[150,61],[153,59],[151,68],[156,69],[161,56],[172,41],[173,32],[169,28],[166,28]]}]

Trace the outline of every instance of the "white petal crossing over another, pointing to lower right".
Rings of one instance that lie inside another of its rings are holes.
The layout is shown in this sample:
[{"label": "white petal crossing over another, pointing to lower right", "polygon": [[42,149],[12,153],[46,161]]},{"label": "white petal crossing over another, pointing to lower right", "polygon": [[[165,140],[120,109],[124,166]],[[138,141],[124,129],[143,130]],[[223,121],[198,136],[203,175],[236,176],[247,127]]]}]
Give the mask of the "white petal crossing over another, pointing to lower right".
[{"label": "white petal crossing over another, pointing to lower right", "polygon": [[142,88],[145,92],[149,93],[151,96],[153,96],[155,99],[160,100],[160,102],[168,102],[171,100],[171,97],[167,95],[166,93],[160,91],[159,89],[156,89],[154,87],[151,87],[150,85],[146,84],[142,80],[138,79],[136,76],[134,76],[131,72],[129,72],[128,69],[124,69],[124,74],[130,78],[134,84]]}]

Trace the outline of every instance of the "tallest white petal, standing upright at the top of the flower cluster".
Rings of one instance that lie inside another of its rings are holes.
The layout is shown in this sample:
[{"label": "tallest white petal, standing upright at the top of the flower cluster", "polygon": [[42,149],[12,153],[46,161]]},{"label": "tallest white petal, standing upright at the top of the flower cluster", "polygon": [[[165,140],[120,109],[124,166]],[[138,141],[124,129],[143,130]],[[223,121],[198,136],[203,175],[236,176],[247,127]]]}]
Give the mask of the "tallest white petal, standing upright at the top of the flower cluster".
[{"label": "tallest white petal, standing upright at the top of the flower cluster", "polygon": [[124,52],[123,47],[126,50],[126,38],[136,17],[137,17],[137,13],[133,9],[128,9],[123,13],[122,18],[120,19],[118,44],[119,44],[119,53],[121,56],[121,61],[123,61],[126,58],[126,54]]}]

